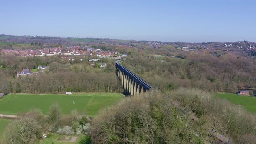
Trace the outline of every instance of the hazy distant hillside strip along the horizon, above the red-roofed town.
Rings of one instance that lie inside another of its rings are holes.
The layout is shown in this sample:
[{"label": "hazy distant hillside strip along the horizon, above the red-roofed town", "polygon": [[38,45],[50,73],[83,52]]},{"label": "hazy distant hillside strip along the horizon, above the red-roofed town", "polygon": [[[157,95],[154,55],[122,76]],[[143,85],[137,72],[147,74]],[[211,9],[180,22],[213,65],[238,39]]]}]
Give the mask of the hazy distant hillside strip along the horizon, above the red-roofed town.
[{"label": "hazy distant hillside strip along the horizon, above the red-roofed town", "polygon": [[[226,48],[226,49],[240,49],[252,51],[256,42],[248,42],[241,40],[238,42],[160,42],[160,41],[147,41],[147,40],[121,40],[110,38],[79,38],[79,37],[58,37],[58,36],[13,36],[0,34],[0,49],[11,49],[17,44],[31,44],[38,42],[37,48],[54,47],[54,46],[75,46],[75,45],[90,45],[90,44],[110,44],[110,45],[125,45],[125,46],[151,46],[159,48],[164,46],[174,46],[175,48],[185,49],[209,49],[209,48]],[[24,46],[19,46],[23,47]],[[33,48],[33,46],[25,47]]]}]

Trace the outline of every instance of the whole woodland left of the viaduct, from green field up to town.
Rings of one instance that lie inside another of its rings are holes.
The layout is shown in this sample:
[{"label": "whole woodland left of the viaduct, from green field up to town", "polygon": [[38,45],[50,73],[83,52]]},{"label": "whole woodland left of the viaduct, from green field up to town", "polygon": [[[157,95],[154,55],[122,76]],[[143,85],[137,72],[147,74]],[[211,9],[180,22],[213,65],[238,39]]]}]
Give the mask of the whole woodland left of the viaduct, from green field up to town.
[{"label": "whole woodland left of the viaduct, from green field up to town", "polygon": [[[63,93],[63,92],[123,92],[115,75],[115,62],[107,63],[105,69],[90,66],[84,61],[64,62],[56,57],[0,57],[0,92],[11,93]],[[16,76],[22,69],[36,69],[47,65],[48,69],[37,75]]]}]

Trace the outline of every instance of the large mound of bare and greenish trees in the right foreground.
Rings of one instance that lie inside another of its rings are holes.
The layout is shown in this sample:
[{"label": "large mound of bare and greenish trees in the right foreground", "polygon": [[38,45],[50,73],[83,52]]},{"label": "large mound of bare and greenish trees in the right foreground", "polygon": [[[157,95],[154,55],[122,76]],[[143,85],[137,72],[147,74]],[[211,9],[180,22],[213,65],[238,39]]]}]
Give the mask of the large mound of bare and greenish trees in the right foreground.
[{"label": "large mound of bare and greenish trees in the right foreground", "polygon": [[178,88],[125,98],[92,121],[95,144],[256,143],[256,116],[208,92]]}]

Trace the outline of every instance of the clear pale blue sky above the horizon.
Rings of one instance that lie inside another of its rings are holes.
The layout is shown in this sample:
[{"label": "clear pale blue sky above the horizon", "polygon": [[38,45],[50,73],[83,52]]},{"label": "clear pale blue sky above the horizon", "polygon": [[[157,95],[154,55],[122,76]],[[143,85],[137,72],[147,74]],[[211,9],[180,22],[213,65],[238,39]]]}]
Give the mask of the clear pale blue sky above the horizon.
[{"label": "clear pale blue sky above the horizon", "polygon": [[1,0],[0,33],[256,41],[256,0]]}]

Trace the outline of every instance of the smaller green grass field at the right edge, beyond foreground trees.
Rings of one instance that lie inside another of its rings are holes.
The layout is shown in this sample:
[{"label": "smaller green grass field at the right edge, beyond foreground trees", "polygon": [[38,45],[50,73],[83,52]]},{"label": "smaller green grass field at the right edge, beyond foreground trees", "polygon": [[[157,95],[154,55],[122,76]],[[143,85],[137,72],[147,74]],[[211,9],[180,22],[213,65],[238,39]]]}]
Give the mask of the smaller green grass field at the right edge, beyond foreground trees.
[{"label": "smaller green grass field at the right edge, beyond foreground trees", "polygon": [[230,93],[217,93],[216,95],[220,98],[227,99],[235,105],[243,105],[247,111],[256,113],[256,97],[240,96]]}]

